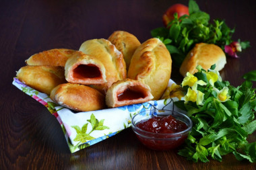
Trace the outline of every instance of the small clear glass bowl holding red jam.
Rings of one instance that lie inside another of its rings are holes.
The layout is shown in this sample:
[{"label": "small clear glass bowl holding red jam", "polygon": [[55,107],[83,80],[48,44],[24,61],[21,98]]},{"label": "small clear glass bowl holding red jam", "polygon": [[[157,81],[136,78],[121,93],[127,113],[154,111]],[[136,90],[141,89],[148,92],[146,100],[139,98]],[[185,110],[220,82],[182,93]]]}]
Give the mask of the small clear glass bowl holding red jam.
[{"label": "small clear glass bowl holding red jam", "polygon": [[[184,126],[185,128],[180,132],[177,132],[179,130],[175,130],[176,132],[148,132],[138,127],[141,122],[146,122],[147,120],[156,117],[163,118],[169,115],[178,120],[178,122],[181,121],[185,123],[187,127]],[[170,150],[183,144],[187,135],[191,131],[192,125],[193,123],[187,115],[171,110],[147,110],[136,114],[131,120],[131,128],[142,144],[148,148],[158,151]]]}]

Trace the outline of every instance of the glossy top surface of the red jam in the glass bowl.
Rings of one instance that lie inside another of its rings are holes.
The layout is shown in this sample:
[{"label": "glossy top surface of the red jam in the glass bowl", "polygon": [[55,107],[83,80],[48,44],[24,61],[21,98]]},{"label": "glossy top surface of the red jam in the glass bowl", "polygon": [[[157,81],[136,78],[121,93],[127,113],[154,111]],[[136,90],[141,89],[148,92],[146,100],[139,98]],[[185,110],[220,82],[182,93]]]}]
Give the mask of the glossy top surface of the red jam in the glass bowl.
[{"label": "glossy top surface of the red jam in the glass bowl", "polygon": [[154,133],[170,134],[187,129],[187,124],[175,119],[173,116],[154,116],[148,120],[142,120],[136,126],[142,130]]}]

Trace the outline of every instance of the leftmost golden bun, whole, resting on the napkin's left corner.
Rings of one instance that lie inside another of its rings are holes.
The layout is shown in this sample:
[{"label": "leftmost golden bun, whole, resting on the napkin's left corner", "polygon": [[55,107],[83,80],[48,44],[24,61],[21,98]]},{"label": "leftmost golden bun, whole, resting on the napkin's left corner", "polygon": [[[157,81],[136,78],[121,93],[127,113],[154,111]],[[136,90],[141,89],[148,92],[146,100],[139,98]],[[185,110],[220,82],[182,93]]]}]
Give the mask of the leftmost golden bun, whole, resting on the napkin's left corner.
[{"label": "leftmost golden bun, whole, resting on the napkin's left corner", "polygon": [[64,68],[54,66],[25,66],[17,72],[22,83],[50,95],[51,90],[61,83],[66,83]]}]

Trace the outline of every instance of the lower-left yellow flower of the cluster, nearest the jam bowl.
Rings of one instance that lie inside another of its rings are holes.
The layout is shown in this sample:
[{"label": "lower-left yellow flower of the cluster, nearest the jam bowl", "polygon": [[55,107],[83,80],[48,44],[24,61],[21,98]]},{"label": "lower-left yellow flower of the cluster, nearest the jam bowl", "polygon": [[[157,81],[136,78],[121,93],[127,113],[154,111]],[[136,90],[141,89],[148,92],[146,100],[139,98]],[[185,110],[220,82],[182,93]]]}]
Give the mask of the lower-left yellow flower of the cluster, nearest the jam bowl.
[{"label": "lower-left yellow flower of the cluster, nearest the jam bowl", "polygon": [[197,105],[201,105],[203,104],[203,95],[204,93],[202,93],[201,91],[189,88],[187,89],[187,95],[185,95],[184,97],[185,103],[187,103],[188,101],[192,101],[196,102]]}]

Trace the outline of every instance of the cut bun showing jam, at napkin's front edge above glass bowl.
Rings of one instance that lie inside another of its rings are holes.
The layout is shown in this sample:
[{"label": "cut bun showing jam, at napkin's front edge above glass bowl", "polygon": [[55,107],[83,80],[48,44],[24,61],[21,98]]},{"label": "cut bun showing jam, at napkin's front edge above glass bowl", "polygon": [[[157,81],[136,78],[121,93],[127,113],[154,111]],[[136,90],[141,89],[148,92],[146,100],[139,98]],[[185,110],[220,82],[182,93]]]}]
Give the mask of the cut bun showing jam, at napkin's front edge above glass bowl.
[{"label": "cut bun showing jam, at napkin's front edge above glass bowl", "polygon": [[153,95],[150,93],[150,87],[132,79],[117,81],[106,92],[106,105],[109,108],[143,103],[151,99]]}]

